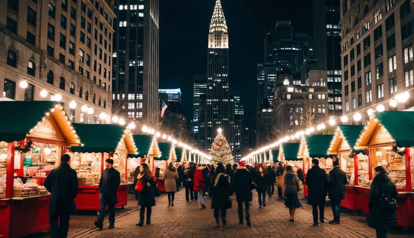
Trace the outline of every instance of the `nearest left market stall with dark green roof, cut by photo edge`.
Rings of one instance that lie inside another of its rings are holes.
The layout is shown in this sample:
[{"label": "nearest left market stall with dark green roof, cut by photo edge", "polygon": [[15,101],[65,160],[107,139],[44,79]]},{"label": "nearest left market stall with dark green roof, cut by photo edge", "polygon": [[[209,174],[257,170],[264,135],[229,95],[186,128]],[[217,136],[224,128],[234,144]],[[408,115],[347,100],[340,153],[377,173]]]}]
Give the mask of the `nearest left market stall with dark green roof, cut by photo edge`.
[{"label": "nearest left market stall with dark green roof, cut by photo edge", "polygon": [[2,101],[0,108],[0,237],[21,237],[50,228],[50,194],[31,176],[46,176],[81,141],[60,103]]}]

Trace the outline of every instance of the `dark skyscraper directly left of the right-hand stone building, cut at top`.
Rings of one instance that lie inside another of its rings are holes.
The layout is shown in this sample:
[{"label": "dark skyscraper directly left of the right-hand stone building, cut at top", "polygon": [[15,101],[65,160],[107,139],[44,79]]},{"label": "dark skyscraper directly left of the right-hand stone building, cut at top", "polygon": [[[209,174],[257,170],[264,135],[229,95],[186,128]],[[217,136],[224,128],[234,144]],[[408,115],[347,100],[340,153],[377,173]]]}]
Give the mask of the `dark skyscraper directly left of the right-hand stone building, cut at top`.
[{"label": "dark skyscraper directly left of the right-hand stone building, cut at top", "polygon": [[339,0],[313,0],[313,48],[317,69],[327,71],[328,113],[342,114],[341,14]]}]

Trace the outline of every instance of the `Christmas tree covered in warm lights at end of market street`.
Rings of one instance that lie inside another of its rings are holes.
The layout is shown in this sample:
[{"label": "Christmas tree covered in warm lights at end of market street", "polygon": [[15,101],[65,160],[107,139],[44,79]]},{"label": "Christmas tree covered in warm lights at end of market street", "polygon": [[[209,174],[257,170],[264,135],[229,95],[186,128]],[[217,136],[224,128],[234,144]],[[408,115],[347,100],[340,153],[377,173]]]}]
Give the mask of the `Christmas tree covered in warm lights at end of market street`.
[{"label": "Christmas tree covered in warm lights at end of market street", "polygon": [[212,157],[211,162],[214,164],[221,163],[224,166],[226,164],[234,164],[234,158],[231,154],[231,149],[226,137],[221,133],[221,129],[218,129],[219,134],[214,138],[214,142],[210,149],[210,155]]}]

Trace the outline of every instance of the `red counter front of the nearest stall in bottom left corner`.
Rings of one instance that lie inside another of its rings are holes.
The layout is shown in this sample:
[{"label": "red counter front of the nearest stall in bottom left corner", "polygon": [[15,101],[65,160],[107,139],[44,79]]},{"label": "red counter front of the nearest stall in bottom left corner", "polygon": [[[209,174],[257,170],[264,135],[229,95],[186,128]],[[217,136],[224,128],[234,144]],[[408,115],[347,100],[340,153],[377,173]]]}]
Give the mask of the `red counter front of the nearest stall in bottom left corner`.
[{"label": "red counter front of the nearest stall in bottom left corner", "polygon": [[0,237],[22,237],[48,230],[50,193],[0,200]]}]

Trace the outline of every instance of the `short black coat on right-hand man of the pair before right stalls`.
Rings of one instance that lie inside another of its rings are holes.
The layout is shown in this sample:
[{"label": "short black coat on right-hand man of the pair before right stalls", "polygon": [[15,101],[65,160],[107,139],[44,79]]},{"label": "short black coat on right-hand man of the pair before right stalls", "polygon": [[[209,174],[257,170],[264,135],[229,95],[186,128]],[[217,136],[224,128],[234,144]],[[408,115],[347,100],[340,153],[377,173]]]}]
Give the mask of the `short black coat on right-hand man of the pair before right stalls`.
[{"label": "short black coat on right-hand man of the pair before right stalls", "polygon": [[348,184],[347,173],[339,166],[329,171],[329,198],[335,200],[345,199],[345,185]]}]

